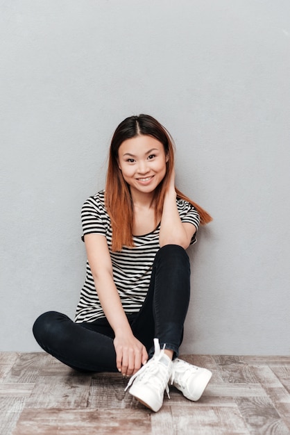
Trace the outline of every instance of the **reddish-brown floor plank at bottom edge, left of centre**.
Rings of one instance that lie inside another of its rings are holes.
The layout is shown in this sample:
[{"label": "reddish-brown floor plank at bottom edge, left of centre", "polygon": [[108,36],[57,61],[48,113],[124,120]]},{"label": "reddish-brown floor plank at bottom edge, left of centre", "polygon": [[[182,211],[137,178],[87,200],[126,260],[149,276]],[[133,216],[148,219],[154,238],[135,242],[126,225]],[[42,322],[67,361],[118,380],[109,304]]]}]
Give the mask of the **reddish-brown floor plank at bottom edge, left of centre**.
[{"label": "reddish-brown floor plank at bottom edge, left of centre", "polygon": [[151,411],[137,409],[24,409],[13,435],[148,435]]}]

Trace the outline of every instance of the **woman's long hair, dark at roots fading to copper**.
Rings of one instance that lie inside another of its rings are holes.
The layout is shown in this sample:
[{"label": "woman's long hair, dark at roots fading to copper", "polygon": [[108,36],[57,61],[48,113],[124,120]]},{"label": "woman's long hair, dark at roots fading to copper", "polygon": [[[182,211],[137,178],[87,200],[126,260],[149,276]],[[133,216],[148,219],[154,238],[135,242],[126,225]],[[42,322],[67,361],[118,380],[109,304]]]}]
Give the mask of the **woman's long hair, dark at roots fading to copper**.
[{"label": "woman's long hair, dark at roots fading to copper", "polygon": [[[155,204],[155,220],[162,215],[164,196],[174,167],[174,145],[167,129],[150,115],[130,116],[123,120],[114,131],[110,151],[108,172],[105,185],[105,207],[110,215],[112,224],[112,250],[121,251],[123,245],[133,247],[133,202],[130,186],[123,179],[118,165],[118,150],[124,140],[135,136],[152,136],[164,146],[168,156],[167,172],[164,179],[155,189],[153,204]],[[185,199],[192,204],[201,217],[201,224],[207,224],[212,217],[201,206],[185,196],[176,188],[178,198]],[[157,222],[156,222],[157,224]]]}]

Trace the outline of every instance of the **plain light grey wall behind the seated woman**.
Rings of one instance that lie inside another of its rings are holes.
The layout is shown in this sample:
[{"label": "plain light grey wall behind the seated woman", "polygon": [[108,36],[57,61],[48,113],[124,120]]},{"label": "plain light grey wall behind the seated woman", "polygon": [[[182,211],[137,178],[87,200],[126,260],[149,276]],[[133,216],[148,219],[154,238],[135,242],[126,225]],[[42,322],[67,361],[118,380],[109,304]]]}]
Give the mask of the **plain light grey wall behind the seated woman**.
[{"label": "plain light grey wall behind the seated woman", "polygon": [[189,249],[182,352],[289,354],[288,0],[1,1],[0,349],[74,316],[80,207],[110,137],[150,113],[214,222]]}]

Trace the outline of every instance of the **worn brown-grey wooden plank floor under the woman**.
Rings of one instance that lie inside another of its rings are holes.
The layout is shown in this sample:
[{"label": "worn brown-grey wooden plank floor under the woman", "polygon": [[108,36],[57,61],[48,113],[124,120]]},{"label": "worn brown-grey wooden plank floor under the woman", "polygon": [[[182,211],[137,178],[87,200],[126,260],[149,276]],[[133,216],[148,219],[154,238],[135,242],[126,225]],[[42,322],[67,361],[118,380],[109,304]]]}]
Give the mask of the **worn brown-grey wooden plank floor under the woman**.
[{"label": "worn brown-grey wooden plank floor under the woman", "polygon": [[171,387],[154,413],[119,374],[79,374],[44,353],[0,352],[0,434],[290,434],[290,357],[183,356],[209,368],[198,402]]}]

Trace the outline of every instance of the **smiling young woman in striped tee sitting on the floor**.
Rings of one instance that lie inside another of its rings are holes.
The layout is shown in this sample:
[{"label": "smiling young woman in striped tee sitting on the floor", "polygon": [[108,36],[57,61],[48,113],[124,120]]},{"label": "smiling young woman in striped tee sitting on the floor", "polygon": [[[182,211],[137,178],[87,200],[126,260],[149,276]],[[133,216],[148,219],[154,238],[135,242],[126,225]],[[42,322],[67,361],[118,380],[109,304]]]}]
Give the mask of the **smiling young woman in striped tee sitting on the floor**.
[{"label": "smiling young woman in striped tee sitting on the floor", "polygon": [[178,359],[190,293],[185,249],[212,218],[174,181],[167,130],[149,115],[123,120],[105,190],[82,208],[87,276],[76,318],[49,311],[33,326],[37,343],[68,366],[131,377],[129,393],[155,412],[169,384],[198,400],[212,376]]}]

